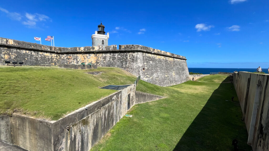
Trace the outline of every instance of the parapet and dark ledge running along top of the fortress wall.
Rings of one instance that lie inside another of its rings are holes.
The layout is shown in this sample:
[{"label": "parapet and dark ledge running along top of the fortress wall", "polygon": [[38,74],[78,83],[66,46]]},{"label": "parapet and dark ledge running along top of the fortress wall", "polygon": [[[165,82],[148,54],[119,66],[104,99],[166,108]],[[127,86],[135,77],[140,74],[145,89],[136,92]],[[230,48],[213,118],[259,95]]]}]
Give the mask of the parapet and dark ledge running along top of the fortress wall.
[{"label": "parapet and dark ledge running along top of the fortress wall", "polygon": [[[20,44],[25,44],[26,46],[22,46]],[[113,49],[116,45],[111,46],[105,46],[105,48],[111,48],[111,50],[97,47],[91,47],[91,46],[85,46],[85,47],[54,47],[54,46],[47,46],[47,45],[40,45],[40,44],[34,44],[31,42],[24,42],[24,41],[18,41],[13,39],[7,39],[7,38],[1,38],[0,37],[0,46],[4,47],[11,47],[11,48],[19,48],[19,49],[26,49],[26,50],[32,50],[32,51],[40,51],[40,52],[47,52],[47,53],[55,53],[55,54],[87,54],[87,53],[124,53],[124,52],[144,52],[144,53],[150,53],[154,55],[159,56],[165,56],[165,57],[171,57],[181,60],[187,60],[186,57],[176,55],[173,53],[160,51],[158,49],[153,49],[150,47],[142,46],[142,45],[119,45],[120,49]],[[126,48],[127,47],[127,48]],[[128,48],[129,47],[129,48]],[[92,49],[94,48],[94,50]],[[95,50],[97,48],[98,50]],[[133,49],[135,48],[135,49]],[[64,51],[62,52],[61,49],[77,49],[77,51]],[[86,49],[86,51],[84,51]],[[80,50],[80,51],[78,51]]]}]

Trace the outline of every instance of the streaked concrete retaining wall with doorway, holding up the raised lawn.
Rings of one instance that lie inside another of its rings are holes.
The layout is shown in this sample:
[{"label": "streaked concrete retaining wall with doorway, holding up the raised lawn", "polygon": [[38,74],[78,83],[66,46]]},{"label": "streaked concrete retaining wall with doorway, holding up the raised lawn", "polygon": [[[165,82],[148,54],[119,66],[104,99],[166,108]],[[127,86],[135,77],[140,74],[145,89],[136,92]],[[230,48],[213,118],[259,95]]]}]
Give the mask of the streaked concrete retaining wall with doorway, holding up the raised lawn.
[{"label": "streaked concrete retaining wall with doorway, holding up the raised lawn", "polygon": [[136,92],[132,84],[57,121],[2,115],[0,139],[29,151],[90,150],[128,112],[128,100],[131,108],[161,98],[164,97]]}]

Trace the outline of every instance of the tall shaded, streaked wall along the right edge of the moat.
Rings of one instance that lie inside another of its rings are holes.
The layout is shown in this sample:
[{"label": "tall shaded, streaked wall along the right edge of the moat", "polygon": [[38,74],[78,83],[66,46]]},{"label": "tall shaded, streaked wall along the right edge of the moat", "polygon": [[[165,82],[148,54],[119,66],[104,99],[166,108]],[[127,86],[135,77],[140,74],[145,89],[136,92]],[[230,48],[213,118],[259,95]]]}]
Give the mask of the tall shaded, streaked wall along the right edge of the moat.
[{"label": "tall shaded, streaked wall along the right edge of the moat", "polygon": [[254,151],[268,151],[269,75],[235,72],[233,82],[249,133],[248,143]]}]

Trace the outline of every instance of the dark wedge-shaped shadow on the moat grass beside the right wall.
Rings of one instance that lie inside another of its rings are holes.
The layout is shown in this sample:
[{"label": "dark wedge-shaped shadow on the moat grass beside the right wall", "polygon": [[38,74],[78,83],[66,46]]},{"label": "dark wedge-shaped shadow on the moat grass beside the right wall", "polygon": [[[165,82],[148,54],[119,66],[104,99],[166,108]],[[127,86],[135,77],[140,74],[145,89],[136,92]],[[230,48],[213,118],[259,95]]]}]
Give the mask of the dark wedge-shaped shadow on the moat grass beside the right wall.
[{"label": "dark wedge-shaped shadow on the moat grass beside the right wall", "polygon": [[239,150],[252,150],[247,145],[247,130],[241,121],[242,112],[233,84],[224,83],[228,78],[210,96],[174,151],[233,150],[232,140],[235,138],[239,141]]}]

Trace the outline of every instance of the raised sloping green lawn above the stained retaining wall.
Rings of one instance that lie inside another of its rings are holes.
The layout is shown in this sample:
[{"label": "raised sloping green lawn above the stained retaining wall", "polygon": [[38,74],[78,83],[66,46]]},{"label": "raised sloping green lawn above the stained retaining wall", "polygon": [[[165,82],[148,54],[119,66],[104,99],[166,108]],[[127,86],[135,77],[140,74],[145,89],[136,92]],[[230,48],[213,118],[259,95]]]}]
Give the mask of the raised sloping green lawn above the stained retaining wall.
[{"label": "raised sloping green lawn above the stained retaining wall", "polygon": [[[92,71],[102,74],[86,73]],[[51,120],[116,92],[99,87],[132,84],[136,80],[124,70],[109,67],[85,71],[0,66],[0,73],[0,114],[18,112]]]}]

